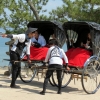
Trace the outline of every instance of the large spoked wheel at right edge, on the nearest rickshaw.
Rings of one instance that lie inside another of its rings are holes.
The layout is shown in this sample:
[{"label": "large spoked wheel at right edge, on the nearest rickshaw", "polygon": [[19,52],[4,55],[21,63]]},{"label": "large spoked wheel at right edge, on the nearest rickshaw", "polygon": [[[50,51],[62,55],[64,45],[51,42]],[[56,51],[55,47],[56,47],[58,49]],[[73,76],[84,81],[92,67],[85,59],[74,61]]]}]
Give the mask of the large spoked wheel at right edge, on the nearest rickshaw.
[{"label": "large spoked wheel at right edge, on the nearest rickshaw", "polygon": [[100,87],[100,63],[91,57],[85,63],[81,77],[82,87],[87,94],[94,94]]}]

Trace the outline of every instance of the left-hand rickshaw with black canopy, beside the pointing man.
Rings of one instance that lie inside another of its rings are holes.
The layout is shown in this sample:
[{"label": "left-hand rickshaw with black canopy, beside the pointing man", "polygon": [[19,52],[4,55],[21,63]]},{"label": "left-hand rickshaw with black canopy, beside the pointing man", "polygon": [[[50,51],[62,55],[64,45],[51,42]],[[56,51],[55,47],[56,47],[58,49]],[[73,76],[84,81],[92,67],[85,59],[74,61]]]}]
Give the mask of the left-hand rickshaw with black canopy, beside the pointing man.
[{"label": "left-hand rickshaw with black canopy, beside the pointing man", "polygon": [[[59,41],[60,47],[62,47],[66,41],[65,32],[62,28],[62,24],[59,22],[31,21],[31,22],[29,22],[27,27],[38,28],[39,33],[44,36],[47,44],[48,44],[48,40],[51,35],[55,35],[56,39]],[[32,68],[29,68],[29,64],[25,61],[25,59],[23,59],[23,61],[21,61],[22,67],[21,67],[20,78],[23,82],[25,82],[25,83],[31,82],[36,75],[39,79],[39,73],[42,73],[43,75],[45,74],[45,68],[42,67],[42,69],[41,69],[40,66],[43,64],[43,60],[46,56],[47,50],[48,50],[47,47],[44,47],[42,49],[41,48],[37,48],[37,49],[35,48],[33,50],[31,49],[31,51],[33,53],[39,51],[39,52],[37,52],[37,54],[34,55],[34,58],[31,57],[31,60],[32,60],[31,65],[33,66]],[[37,58],[38,55],[43,55],[43,56]],[[28,77],[25,77],[26,75]],[[54,86],[54,83],[52,82],[52,78],[49,80],[49,82],[52,86]]]}]

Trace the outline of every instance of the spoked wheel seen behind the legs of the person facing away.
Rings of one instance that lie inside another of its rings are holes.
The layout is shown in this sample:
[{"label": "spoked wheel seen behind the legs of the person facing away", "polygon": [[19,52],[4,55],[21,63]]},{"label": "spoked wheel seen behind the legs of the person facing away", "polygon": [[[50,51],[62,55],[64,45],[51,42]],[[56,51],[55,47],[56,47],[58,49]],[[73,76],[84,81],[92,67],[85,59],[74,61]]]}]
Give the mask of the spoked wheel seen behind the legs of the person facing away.
[{"label": "spoked wheel seen behind the legs of the person facing away", "polygon": [[[72,79],[72,74],[69,74],[66,71],[62,71],[62,88],[66,87],[70,83],[71,79]],[[56,71],[53,72],[52,80],[55,86],[58,87]]]}]

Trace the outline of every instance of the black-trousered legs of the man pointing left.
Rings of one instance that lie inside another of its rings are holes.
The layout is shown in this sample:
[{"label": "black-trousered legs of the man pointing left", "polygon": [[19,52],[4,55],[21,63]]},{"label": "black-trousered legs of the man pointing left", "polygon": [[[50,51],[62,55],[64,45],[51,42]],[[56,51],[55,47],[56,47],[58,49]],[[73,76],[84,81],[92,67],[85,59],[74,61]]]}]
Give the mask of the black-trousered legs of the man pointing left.
[{"label": "black-trousered legs of the man pointing left", "polygon": [[18,86],[15,85],[19,64],[15,63],[14,61],[19,60],[19,56],[15,52],[11,52],[10,58],[12,61],[12,80],[11,80],[11,88],[17,88]]}]

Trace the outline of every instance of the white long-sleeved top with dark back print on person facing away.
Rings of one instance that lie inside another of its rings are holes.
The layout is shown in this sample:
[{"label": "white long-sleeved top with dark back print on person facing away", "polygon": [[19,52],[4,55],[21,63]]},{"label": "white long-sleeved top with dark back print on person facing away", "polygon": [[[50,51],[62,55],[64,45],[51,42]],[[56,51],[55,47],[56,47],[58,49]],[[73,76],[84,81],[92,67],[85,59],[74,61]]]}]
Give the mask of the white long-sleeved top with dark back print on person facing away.
[{"label": "white long-sleeved top with dark back print on person facing away", "polygon": [[63,49],[61,48],[55,48],[55,46],[52,46],[49,48],[46,58],[45,58],[45,62],[49,61],[49,64],[59,64],[59,65],[63,65],[63,60],[62,58],[64,58],[65,63],[68,63],[68,58],[64,52]]}]

